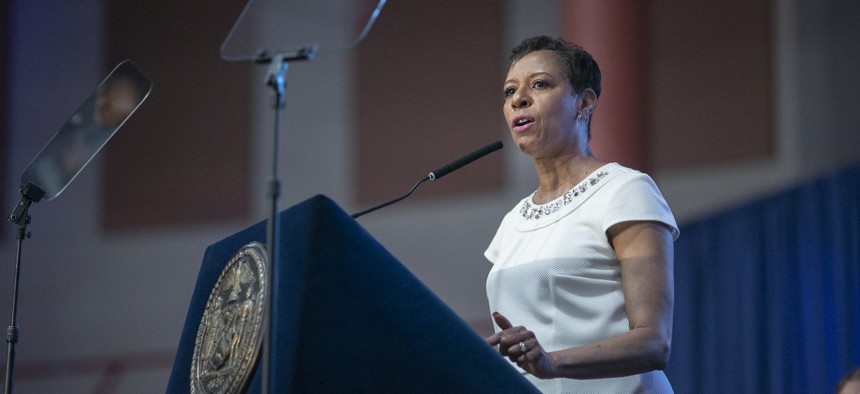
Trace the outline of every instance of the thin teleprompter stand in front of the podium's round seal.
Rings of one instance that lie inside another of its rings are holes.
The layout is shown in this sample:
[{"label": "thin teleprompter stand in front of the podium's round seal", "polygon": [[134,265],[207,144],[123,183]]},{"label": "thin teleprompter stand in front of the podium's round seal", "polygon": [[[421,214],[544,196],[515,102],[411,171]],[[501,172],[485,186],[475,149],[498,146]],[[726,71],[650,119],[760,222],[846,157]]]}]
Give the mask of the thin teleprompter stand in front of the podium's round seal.
[{"label": "thin teleprompter stand in front of the podium's round seal", "polygon": [[266,283],[266,297],[264,301],[264,319],[263,319],[263,354],[262,354],[262,386],[260,391],[263,394],[269,393],[271,362],[272,362],[272,332],[273,330],[273,309],[275,291],[275,262],[280,256],[280,218],[278,217],[278,199],[281,194],[281,181],[278,178],[278,154],[279,149],[279,134],[281,128],[281,110],[286,107],[285,91],[287,88],[286,73],[289,68],[289,62],[295,60],[311,60],[313,58],[316,47],[309,45],[302,47],[292,54],[278,54],[269,56],[265,52],[257,55],[255,63],[270,64],[269,72],[266,79],[266,84],[275,91],[274,115],[275,124],[272,133],[272,174],[268,184],[268,200],[269,200],[269,218],[266,222],[266,251],[269,255],[269,266],[266,267],[269,272],[269,280]]}]

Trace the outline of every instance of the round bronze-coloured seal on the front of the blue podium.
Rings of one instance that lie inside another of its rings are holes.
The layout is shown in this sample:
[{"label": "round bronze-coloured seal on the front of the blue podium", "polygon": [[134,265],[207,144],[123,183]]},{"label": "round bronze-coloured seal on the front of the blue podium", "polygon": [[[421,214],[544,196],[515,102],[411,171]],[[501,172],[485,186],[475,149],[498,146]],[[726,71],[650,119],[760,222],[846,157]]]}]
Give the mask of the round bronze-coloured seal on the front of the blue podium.
[{"label": "round bronze-coloured seal on the front of the blue podium", "polygon": [[254,242],[221,272],[197,329],[192,393],[238,393],[246,387],[263,339],[267,266],[265,248]]}]

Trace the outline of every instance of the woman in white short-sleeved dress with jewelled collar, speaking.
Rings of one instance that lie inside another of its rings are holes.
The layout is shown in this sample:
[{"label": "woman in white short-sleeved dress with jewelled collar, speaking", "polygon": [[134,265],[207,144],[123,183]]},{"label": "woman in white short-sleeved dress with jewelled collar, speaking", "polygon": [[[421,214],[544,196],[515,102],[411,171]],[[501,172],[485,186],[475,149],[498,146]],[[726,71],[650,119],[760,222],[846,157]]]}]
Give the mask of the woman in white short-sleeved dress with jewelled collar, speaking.
[{"label": "woman in white short-sleeved dress with jewelled collar, speaking", "polygon": [[596,159],[590,119],[600,70],[541,36],[514,48],[504,115],[538,188],[485,255],[496,334],[487,343],[544,392],[671,393],[678,228],[647,175]]}]

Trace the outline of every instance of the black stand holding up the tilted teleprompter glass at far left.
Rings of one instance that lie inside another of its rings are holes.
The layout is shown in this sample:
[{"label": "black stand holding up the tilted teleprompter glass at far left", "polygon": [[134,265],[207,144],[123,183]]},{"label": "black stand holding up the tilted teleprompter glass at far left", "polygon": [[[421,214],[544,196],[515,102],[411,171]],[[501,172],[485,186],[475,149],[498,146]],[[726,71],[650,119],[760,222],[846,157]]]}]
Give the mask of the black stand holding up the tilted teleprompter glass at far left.
[{"label": "black stand holding up the tilted teleprompter glass at far left", "polygon": [[15,344],[18,343],[18,281],[21,278],[21,251],[24,247],[24,238],[30,238],[27,225],[30,224],[30,204],[39,202],[45,196],[45,192],[36,185],[27,182],[18,189],[21,199],[15,210],[9,215],[9,221],[18,226],[15,238],[18,240],[18,252],[15,256],[15,279],[12,286],[12,322],[6,328],[6,394],[12,393],[12,377],[15,373]]}]

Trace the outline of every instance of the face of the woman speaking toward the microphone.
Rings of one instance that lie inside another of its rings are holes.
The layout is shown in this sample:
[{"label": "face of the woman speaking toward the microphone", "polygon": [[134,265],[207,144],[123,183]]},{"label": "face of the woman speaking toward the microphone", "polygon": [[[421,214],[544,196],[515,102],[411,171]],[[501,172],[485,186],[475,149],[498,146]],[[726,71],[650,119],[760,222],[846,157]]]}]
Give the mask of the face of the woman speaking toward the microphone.
[{"label": "face of the woman speaking toward the microphone", "polygon": [[580,99],[562,65],[556,54],[541,50],[523,56],[508,69],[505,120],[514,143],[533,158],[558,157],[587,143],[576,131]]}]

